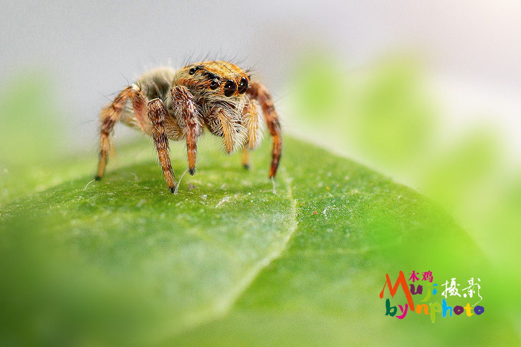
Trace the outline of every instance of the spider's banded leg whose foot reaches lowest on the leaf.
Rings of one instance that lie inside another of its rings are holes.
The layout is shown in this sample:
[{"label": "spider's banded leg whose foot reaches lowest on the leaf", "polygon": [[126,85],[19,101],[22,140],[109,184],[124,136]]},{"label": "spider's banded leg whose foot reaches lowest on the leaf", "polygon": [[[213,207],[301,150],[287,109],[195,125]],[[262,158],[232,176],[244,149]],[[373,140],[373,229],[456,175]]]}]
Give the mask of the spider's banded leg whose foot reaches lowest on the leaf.
[{"label": "spider's banded leg whose foot reaches lowest on the leaf", "polygon": [[159,163],[165,174],[166,184],[173,194],[176,191],[176,181],[173,174],[172,165],[170,163],[170,155],[168,152],[168,137],[165,131],[165,120],[169,117],[168,111],[161,99],[152,99],[148,101],[148,118],[152,123],[152,138],[157,149]]}]

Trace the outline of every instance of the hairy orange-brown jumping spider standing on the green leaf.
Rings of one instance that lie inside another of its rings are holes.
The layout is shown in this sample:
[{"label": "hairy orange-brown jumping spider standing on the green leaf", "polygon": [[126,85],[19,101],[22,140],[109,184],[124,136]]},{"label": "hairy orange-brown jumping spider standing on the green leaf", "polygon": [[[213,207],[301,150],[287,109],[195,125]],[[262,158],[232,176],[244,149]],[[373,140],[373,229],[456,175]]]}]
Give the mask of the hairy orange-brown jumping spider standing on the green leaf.
[{"label": "hairy orange-brown jumping spider standing on the green leaf", "polygon": [[[128,99],[131,109],[127,107]],[[188,168],[193,175],[197,138],[205,127],[224,138],[228,153],[242,148],[243,165],[249,168],[249,150],[257,147],[262,139],[259,106],[273,138],[271,178],[277,173],[282,138],[273,101],[262,84],[250,83],[246,71],[226,61],[203,61],[177,71],[172,68],[148,71],[123,89],[101,112],[100,162],[95,179],[101,179],[105,172],[109,135],[118,120],[152,136],[172,193],[176,181],[168,140],[186,140]]]}]

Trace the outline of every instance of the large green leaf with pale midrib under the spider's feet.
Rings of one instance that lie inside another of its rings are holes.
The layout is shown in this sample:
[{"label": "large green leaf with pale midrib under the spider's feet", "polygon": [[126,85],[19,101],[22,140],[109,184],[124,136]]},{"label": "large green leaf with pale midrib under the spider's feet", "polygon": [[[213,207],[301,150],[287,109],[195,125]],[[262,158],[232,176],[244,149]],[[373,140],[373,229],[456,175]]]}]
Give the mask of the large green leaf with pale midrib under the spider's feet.
[{"label": "large green leaf with pale midrib under the spider's feet", "polygon": [[[171,153],[180,177],[182,144]],[[146,143],[121,148],[104,180],[89,185],[94,154],[38,166],[36,176],[9,170],[4,187],[11,192],[0,200],[0,340],[519,342],[493,309],[439,315],[434,325],[416,313],[385,316],[379,293],[386,273],[395,280],[400,270],[432,271],[439,284],[450,276],[463,282],[488,272],[482,255],[417,192],[300,140],[286,137],[283,153],[276,192],[267,179],[268,141],[246,172],[237,156],[205,140],[198,171],[183,176],[178,195],[168,193]],[[405,304],[400,294],[392,300]]]}]

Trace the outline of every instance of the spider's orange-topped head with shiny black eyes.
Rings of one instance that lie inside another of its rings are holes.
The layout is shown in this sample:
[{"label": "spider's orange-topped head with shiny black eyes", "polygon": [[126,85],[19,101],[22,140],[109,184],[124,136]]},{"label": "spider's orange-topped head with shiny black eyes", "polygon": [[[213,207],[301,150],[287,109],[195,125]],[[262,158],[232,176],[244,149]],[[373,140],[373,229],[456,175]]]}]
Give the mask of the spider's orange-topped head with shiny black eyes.
[{"label": "spider's orange-topped head with shiny black eyes", "polygon": [[250,83],[250,75],[226,61],[203,61],[176,73],[176,84],[184,85],[198,99],[238,101]]}]

